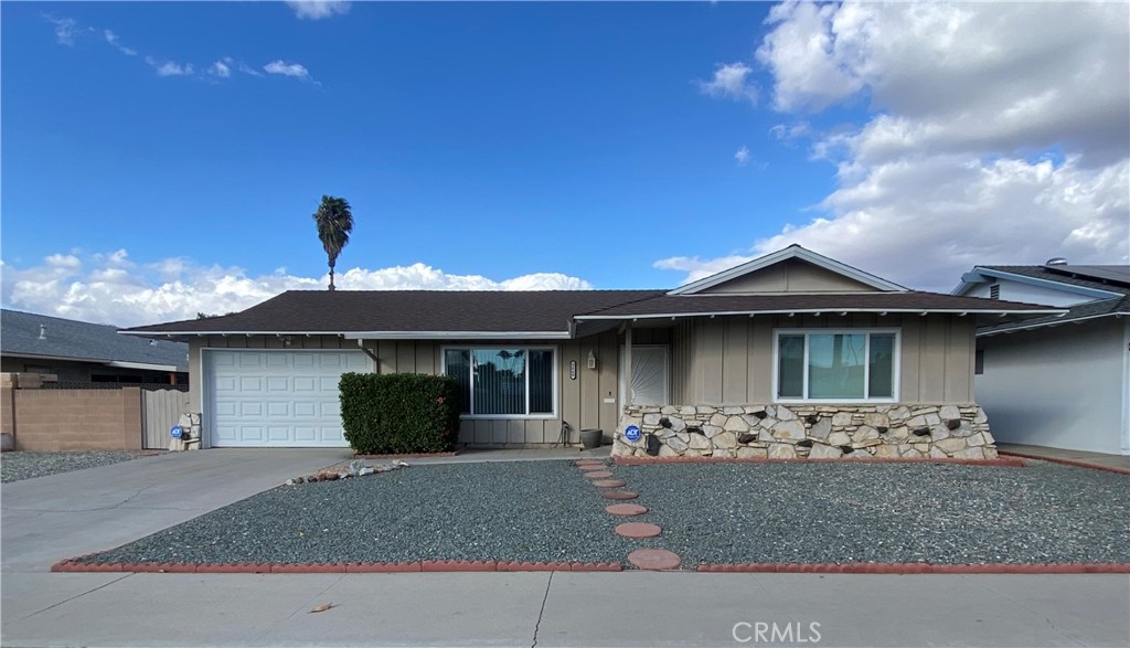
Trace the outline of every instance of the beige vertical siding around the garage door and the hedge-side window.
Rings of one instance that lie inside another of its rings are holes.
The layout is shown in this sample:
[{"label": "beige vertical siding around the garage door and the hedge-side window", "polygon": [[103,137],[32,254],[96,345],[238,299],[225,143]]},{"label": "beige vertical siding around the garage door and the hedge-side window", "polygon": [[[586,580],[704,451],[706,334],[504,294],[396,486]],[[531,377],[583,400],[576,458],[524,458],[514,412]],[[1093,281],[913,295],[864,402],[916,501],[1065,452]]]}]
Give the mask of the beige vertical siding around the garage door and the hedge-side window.
[{"label": "beige vertical siding around the garage door and the hedge-side window", "polygon": [[[645,334],[644,339],[658,339]],[[562,421],[571,426],[570,438],[577,441],[577,430],[596,427],[611,435],[616,427],[618,403],[618,338],[616,331],[557,343],[551,340],[365,340],[381,373],[424,373],[434,375],[443,369],[443,348],[447,346],[550,346],[557,358],[557,416],[551,418],[464,418],[459,442],[473,446],[556,443]],[[642,343],[641,343],[642,344]],[[200,351],[216,348],[357,349],[357,342],[338,336],[292,337],[286,345],[278,336],[207,336],[189,342],[189,400],[193,412],[201,407]],[[597,369],[588,369],[589,352],[597,356]],[[577,377],[570,379],[570,361],[577,363]],[[611,401],[607,401],[611,399]]]}]

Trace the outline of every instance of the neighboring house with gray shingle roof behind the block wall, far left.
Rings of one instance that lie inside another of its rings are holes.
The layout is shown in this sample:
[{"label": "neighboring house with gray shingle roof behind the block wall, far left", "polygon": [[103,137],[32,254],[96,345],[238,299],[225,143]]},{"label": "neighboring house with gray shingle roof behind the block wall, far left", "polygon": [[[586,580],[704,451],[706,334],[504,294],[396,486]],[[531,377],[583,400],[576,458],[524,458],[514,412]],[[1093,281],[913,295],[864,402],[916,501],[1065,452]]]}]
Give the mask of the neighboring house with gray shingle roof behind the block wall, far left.
[{"label": "neighboring house with gray shingle roof behind the block wall, far left", "polygon": [[0,311],[0,371],[60,382],[185,383],[189,345],[118,335],[118,327]]}]

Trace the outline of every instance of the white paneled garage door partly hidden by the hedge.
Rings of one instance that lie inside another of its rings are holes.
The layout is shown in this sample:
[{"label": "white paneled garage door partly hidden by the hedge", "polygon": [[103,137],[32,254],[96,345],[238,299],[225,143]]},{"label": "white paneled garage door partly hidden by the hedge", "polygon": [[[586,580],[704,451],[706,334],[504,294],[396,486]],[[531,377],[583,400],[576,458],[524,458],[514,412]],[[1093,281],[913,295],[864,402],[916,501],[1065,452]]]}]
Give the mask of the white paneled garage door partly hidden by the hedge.
[{"label": "white paneled garage door partly hidden by the hedge", "polygon": [[367,372],[350,351],[209,351],[207,368],[214,447],[347,447],[338,380]]}]

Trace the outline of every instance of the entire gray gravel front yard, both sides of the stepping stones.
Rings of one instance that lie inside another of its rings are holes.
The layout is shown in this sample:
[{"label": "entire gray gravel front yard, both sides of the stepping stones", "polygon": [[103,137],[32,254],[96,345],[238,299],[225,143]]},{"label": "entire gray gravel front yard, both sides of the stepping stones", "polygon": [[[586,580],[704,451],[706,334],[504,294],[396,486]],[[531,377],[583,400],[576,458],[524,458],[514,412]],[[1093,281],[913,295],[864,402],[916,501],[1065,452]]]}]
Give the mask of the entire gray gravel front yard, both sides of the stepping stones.
[{"label": "entire gray gravel front yard, both sides of the stepping stones", "polygon": [[280,486],[94,562],[607,561],[642,546],[702,562],[1130,562],[1130,478],[1037,464],[614,467],[663,528],[626,518],[568,461],[415,466]]}]

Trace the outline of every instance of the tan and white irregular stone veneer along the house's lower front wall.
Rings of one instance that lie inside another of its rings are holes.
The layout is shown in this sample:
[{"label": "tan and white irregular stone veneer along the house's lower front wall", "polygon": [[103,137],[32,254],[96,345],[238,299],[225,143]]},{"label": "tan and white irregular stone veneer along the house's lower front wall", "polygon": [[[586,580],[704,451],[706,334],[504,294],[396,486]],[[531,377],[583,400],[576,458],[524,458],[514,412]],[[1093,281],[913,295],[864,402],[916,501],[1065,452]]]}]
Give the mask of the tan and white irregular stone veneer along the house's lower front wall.
[{"label": "tan and white irregular stone veneer along the house's lower front wall", "polygon": [[[637,425],[638,441],[624,438]],[[620,416],[612,456],[738,459],[996,459],[977,405],[631,405]]]}]

